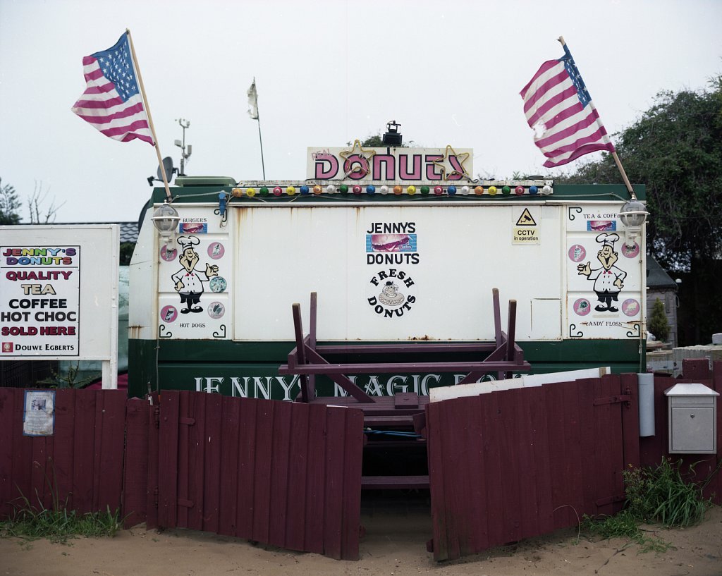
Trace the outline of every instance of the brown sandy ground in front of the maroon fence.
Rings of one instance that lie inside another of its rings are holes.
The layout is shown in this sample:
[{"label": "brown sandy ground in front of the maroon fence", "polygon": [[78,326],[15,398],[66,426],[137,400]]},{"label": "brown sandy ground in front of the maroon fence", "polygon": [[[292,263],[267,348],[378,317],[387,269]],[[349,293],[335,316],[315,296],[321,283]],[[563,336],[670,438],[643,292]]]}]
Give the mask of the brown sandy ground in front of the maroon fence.
[{"label": "brown sandy ground in front of the maroon fence", "polygon": [[144,525],[114,538],[77,538],[68,545],[0,538],[0,576],[722,576],[720,507],[710,510],[701,525],[656,531],[674,546],[659,554],[640,553],[624,540],[578,539],[576,529],[569,529],[437,563],[426,551],[431,521],[423,499],[364,502],[362,525],[366,534],[358,562],[253,546],[209,533],[157,533]]}]

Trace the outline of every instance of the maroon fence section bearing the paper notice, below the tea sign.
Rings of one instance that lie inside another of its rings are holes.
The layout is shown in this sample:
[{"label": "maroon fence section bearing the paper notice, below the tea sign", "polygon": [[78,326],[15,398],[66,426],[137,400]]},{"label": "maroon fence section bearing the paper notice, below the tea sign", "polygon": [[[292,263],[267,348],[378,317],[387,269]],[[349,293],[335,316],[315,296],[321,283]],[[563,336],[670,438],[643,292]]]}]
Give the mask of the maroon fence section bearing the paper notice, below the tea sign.
[{"label": "maroon fence section bearing the paper notice, below the tea sign", "polygon": [[57,390],[53,436],[22,435],[24,391],[0,389],[0,515],[22,498],[90,512],[121,508],[126,393]]}]

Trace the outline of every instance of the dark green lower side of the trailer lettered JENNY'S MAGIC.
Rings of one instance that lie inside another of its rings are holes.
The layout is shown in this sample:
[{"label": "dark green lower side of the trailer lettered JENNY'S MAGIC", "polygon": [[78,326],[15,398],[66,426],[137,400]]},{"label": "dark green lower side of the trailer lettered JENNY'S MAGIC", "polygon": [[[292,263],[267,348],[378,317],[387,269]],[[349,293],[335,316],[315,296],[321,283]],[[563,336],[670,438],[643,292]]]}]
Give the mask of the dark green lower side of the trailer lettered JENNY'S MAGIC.
[{"label": "dark green lower side of the trailer lettered JENNY'S MAGIC", "polygon": [[[148,390],[155,390],[157,374],[161,390],[292,400],[299,392],[298,377],[278,374],[278,367],[285,362],[291,347],[289,343],[278,342],[162,341],[156,370],[156,341],[131,340],[129,395],[144,396]],[[524,344],[523,349],[533,374],[599,366],[610,366],[615,373],[639,370],[637,341],[534,342]],[[250,357],[251,350],[259,357],[271,359],[241,359]],[[464,375],[377,374],[351,378],[371,396],[399,392],[427,395],[429,388],[456,384]],[[321,396],[344,394],[328,378],[318,377],[316,388]]]}]

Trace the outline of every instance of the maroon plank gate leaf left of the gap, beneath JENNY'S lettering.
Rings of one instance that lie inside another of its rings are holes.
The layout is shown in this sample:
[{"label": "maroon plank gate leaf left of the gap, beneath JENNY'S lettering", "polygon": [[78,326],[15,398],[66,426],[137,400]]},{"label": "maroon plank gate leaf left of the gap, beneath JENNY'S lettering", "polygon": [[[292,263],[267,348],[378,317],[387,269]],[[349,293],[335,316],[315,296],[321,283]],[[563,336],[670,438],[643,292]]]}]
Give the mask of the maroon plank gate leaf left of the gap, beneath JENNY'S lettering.
[{"label": "maroon plank gate leaf left of the gap, beneath JENNY'S lettering", "polygon": [[164,391],[149,528],[357,559],[362,448],[360,410]]}]

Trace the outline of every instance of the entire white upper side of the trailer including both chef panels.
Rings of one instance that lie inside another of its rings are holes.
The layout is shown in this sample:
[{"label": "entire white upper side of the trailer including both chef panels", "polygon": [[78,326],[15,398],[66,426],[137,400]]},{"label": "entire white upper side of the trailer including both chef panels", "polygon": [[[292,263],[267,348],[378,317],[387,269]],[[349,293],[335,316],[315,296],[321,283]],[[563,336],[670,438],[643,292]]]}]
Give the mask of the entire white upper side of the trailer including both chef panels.
[{"label": "entire white upper side of the trailer including both chef panels", "polygon": [[625,248],[616,210],[259,204],[222,220],[180,204],[173,245],[154,258],[157,338],[290,341],[292,304],[308,329],[317,292],[325,341],[488,341],[497,288],[503,329],[517,302],[520,343],[638,339],[643,247]]}]

